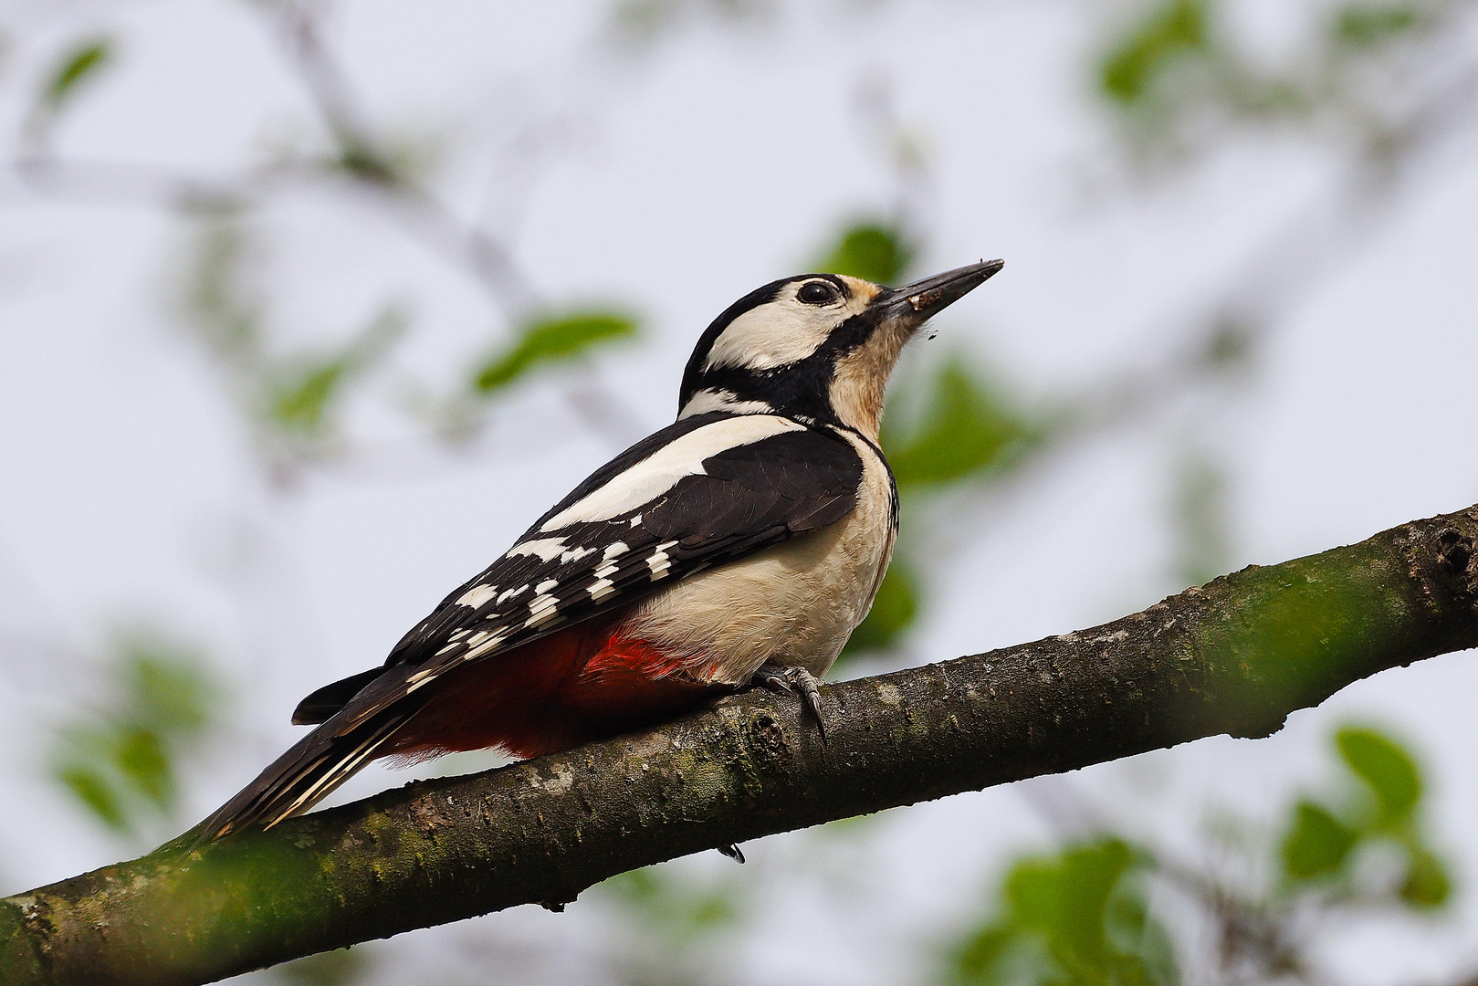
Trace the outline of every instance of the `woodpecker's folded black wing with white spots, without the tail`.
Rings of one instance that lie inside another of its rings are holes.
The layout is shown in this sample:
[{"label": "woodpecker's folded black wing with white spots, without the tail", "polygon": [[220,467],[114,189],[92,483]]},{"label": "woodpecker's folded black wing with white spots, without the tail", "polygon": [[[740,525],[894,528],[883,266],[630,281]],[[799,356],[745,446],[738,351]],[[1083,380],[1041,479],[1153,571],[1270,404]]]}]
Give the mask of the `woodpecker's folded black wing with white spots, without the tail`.
[{"label": "woodpecker's folded black wing with white spots, without the tail", "polygon": [[[362,681],[362,687],[343,710],[341,727],[358,726],[454,667],[630,605],[672,579],[851,511],[862,458],[845,439],[788,418],[743,417],[715,412],[678,421],[602,467],[405,634],[374,680],[367,680],[368,673],[347,679],[344,684]],[[760,438],[690,461],[678,458],[674,467],[686,475],[652,497],[641,495],[644,464],[678,448],[684,436],[702,451],[705,432],[715,427]],[[622,489],[634,503],[613,495]],[[602,495],[615,503],[596,513],[610,516],[560,522]],[[333,687],[315,692],[304,705]]]}]

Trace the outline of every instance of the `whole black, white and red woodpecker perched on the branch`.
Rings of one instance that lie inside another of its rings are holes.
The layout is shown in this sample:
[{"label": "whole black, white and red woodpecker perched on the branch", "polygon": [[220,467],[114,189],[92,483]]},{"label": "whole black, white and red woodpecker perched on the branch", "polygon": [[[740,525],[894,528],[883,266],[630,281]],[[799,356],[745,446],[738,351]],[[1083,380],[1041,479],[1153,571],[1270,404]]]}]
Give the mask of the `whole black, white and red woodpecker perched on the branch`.
[{"label": "whole black, white and red woodpecker perched on the branch", "polygon": [[903,344],[999,260],[905,288],[829,273],[735,302],[687,361],[677,421],[602,466],[390,650],[318,689],[318,724],[201,828],[312,807],[370,760],[535,757],[751,683],[816,679],[872,606],[899,497],[878,448]]}]

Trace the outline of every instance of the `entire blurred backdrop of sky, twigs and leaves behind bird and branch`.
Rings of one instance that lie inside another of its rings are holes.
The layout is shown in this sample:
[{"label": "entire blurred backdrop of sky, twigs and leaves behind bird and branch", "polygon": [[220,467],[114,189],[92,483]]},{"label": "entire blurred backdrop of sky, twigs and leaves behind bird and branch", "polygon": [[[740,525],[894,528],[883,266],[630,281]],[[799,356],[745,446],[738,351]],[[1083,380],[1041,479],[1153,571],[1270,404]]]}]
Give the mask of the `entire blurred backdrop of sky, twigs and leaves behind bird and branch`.
[{"label": "entire blurred backdrop of sky, twigs and leaves behind bird and branch", "polygon": [[[6,893],[216,807],[789,273],[1007,260],[832,677],[1472,504],[1474,6],[0,3]],[[1474,982],[1469,661],[236,982]]]}]

